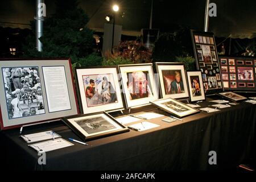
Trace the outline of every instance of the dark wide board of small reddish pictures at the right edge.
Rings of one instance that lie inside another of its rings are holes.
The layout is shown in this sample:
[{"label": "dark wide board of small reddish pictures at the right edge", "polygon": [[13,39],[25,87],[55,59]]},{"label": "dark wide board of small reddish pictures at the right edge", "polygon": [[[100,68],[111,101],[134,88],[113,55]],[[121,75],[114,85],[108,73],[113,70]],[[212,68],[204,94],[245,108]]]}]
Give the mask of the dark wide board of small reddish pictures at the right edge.
[{"label": "dark wide board of small reddish pictures at the right edge", "polygon": [[222,80],[226,90],[256,90],[255,60],[222,57]]}]

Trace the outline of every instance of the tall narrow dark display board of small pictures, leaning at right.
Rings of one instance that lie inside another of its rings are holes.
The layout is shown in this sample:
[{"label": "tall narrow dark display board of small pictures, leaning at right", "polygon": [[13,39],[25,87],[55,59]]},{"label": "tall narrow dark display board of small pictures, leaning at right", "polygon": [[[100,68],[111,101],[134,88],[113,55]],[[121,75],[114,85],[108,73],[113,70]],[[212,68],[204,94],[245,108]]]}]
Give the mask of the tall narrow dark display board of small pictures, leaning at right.
[{"label": "tall narrow dark display board of small pictures, leaning at right", "polygon": [[212,32],[191,30],[197,70],[202,72],[205,94],[223,91],[220,65]]}]

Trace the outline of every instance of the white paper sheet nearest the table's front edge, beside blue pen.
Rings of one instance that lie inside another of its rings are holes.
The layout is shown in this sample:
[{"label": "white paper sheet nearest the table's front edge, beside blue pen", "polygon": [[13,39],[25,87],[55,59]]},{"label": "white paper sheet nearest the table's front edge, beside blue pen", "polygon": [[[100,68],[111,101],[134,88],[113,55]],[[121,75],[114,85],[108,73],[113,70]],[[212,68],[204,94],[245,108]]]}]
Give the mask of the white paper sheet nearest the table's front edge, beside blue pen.
[{"label": "white paper sheet nearest the table's front edge, beside blue pen", "polygon": [[55,140],[47,140],[45,142],[40,142],[40,143],[29,144],[28,146],[34,148],[38,152],[39,151],[48,152],[48,151],[53,151],[53,150],[57,150],[60,148],[69,147],[73,145],[74,145],[73,143],[60,138]]}]

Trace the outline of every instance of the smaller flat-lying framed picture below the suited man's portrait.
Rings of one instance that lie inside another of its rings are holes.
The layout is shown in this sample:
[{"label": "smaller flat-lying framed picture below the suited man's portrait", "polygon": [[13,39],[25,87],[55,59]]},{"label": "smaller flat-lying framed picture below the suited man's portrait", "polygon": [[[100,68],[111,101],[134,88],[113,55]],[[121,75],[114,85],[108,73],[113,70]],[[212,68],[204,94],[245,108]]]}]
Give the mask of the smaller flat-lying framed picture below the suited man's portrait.
[{"label": "smaller flat-lying framed picture below the suited man's portrait", "polygon": [[151,103],[179,118],[200,112],[199,110],[189,107],[173,98],[164,98],[157,101],[151,101]]}]

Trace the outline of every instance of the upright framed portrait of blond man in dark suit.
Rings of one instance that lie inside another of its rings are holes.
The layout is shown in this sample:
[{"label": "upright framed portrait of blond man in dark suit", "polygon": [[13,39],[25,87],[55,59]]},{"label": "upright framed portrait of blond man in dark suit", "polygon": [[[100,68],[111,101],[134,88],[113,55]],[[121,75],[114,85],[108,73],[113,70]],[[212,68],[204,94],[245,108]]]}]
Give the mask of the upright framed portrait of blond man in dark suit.
[{"label": "upright framed portrait of blond man in dark suit", "polygon": [[187,77],[183,63],[155,63],[159,74],[162,98],[185,98],[188,95]]}]

